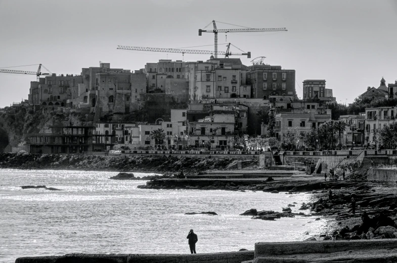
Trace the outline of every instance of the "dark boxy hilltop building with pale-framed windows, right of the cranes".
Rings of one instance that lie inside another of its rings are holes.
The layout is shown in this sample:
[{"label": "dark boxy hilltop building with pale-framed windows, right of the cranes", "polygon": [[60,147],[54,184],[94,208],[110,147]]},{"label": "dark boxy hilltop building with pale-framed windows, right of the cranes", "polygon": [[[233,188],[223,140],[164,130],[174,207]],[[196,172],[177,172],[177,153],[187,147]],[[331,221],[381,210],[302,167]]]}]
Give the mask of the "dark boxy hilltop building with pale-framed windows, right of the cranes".
[{"label": "dark boxy hilltop building with pale-framed windows, right of the cranes", "polygon": [[269,99],[271,95],[296,96],[295,70],[271,65],[249,66],[247,82],[251,85],[252,98]]}]

